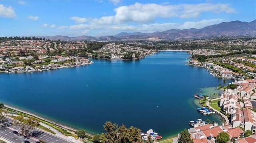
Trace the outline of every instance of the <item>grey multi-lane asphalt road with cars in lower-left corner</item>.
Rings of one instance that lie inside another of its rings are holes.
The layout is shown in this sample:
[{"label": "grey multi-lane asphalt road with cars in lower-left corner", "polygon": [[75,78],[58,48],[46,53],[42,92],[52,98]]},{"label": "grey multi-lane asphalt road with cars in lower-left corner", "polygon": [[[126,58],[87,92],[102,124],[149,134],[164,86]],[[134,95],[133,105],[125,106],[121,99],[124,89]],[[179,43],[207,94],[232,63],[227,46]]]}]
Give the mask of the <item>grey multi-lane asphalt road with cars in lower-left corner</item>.
[{"label": "grey multi-lane asphalt road with cars in lower-left corner", "polygon": [[[10,119],[9,122],[12,122]],[[15,126],[15,130],[20,132],[20,127]],[[13,126],[10,127],[0,127],[0,136],[9,140],[11,143],[24,143],[25,140],[30,141],[30,143],[36,143],[36,141],[42,140],[46,141],[47,143],[71,143],[69,141],[66,141],[65,139],[62,139],[60,137],[56,137],[50,133],[47,133],[46,131],[43,131],[44,133],[42,135],[39,135],[38,137],[32,137],[30,139],[24,139],[23,136],[18,136],[13,133],[14,129]],[[34,131],[40,131],[39,129],[34,129]]]}]

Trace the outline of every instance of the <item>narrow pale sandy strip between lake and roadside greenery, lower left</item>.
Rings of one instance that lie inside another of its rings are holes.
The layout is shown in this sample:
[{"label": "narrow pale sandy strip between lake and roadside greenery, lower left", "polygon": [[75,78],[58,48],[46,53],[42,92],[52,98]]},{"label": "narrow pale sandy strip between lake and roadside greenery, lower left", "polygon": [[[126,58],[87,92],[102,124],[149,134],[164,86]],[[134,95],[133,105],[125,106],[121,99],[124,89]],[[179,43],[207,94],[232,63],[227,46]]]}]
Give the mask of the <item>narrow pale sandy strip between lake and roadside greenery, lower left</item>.
[{"label": "narrow pale sandy strip between lake and roadside greenery, lower left", "polygon": [[21,110],[21,109],[18,109],[18,108],[14,108],[14,107],[9,106],[9,105],[6,105],[6,104],[4,104],[4,107],[10,108],[10,109],[12,109],[12,110],[15,110],[15,111],[18,111],[18,112],[21,112],[21,113],[24,113],[24,114],[27,114],[27,115],[29,115],[29,116],[34,116],[34,117],[36,117],[36,118],[42,119],[42,120],[44,120],[44,121],[47,121],[47,122],[49,122],[49,123],[52,123],[52,124],[57,125],[57,126],[59,126],[59,127],[62,127],[62,128],[64,128],[64,129],[68,129],[68,130],[70,130],[70,131],[77,131],[77,129],[74,129],[74,128],[72,128],[72,127],[67,127],[67,126],[62,125],[62,124],[60,124],[60,123],[56,123],[56,122],[54,122],[54,121],[50,121],[50,120],[48,120],[48,119],[46,119],[46,118],[43,118],[43,117],[41,117],[41,116],[32,114],[32,113],[30,113],[30,112],[27,112],[27,111],[24,111],[24,110]]}]

